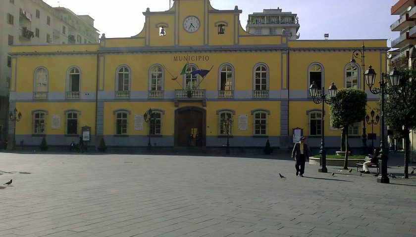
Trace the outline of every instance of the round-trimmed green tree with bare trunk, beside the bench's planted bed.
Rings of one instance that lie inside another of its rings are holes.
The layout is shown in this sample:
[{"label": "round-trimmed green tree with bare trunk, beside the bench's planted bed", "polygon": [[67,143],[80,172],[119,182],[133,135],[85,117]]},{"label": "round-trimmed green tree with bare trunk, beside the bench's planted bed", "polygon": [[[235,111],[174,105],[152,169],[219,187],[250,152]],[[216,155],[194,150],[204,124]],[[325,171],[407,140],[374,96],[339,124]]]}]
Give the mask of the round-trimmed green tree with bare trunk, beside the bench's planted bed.
[{"label": "round-trimmed green tree with bare trunk, beside the bench's planted bed", "polygon": [[367,94],[363,90],[341,88],[330,104],[330,118],[333,127],[343,128],[345,139],[344,169],[348,169],[348,126],[360,122],[365,117]]}]

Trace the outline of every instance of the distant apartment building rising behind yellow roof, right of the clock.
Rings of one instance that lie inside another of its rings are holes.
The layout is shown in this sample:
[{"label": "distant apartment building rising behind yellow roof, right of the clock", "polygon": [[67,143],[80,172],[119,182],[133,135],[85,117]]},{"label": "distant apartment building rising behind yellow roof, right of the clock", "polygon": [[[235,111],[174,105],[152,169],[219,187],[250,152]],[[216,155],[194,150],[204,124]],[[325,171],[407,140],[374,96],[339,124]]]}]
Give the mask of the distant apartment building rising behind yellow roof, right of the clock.
[{"label": "distant apartment building rising behind yellow roof, right of the clock", "polygon": [[249,15],[246,31],[254,35],[285,35],[289,40],[299,39],[299,18],[292,12],[277,9],[263,9]]}]

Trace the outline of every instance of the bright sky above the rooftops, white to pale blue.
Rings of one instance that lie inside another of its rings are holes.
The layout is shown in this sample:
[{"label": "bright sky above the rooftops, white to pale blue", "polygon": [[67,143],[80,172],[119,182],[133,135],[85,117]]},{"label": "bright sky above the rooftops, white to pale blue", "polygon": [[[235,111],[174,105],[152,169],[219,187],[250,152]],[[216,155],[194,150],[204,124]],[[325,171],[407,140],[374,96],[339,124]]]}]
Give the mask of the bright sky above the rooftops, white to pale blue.
[{"label": "bright sky above the rooftops, white to pale blue", "polygon": [[[169,0],[44,0],[49,5],[66,7],[78,15],[90,15],[94,26],[106,38],[131,37],[140,33],[145,23],[143,12],[166,11]],[[281,8],[299,17],[300,40],[320,40],[325,33],[329,40],[390,39],[399,37],[390,25],[399,19],[390,8],[397,0],[211,0],[218,10],[243,13],[240,22],[246,29],[248,15],[263,9]],[[342,3],[342,4],[341,4]],[[172,0],[173,4],[173,0]]]}]

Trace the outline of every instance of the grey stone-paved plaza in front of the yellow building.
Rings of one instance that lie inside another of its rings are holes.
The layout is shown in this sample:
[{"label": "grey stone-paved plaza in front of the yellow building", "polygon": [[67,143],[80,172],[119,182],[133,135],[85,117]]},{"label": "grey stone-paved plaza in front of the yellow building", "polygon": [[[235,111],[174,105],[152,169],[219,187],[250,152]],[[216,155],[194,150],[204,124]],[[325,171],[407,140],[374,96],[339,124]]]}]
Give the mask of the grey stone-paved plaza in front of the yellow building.
[{"label": "grey stone-paved plaza in front of the yellow building", "polygon": [[307,164],[301,178],[278,153],[0,153],[0,236],[416,237],[416,176]]}]

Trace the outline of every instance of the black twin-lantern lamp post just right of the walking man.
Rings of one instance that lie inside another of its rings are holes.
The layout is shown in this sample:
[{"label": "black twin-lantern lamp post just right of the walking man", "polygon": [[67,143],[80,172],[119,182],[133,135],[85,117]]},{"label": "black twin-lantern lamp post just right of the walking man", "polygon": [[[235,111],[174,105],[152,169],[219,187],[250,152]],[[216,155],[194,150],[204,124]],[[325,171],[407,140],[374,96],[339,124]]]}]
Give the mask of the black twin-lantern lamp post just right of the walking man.
[{"label": "black twin-lantern lamp post just right of the walking man", "polygon": [[318,172],[326,173],[328,172],[328,168],[326,168],[326,151],[325,151],[325,126],[324,126],[324,115],[323,115],[323,105],[326,103],[328,105],[332,104],[332,99],[335,98],[337,95],[337,87],[332,82],[331,86],[329,86],[329,96],[330,98],[326,97],[325,89],[322,87],[322,89],[319,89],[319,87],[315,84],[315,82],[312,82],[312,85],[309,87],[309,91],[311,93],[311,96],[313,98],[313,103],[320,104],[322,103],[322,116],[321,116],[321,147],[319,149],[319,169]]}]

